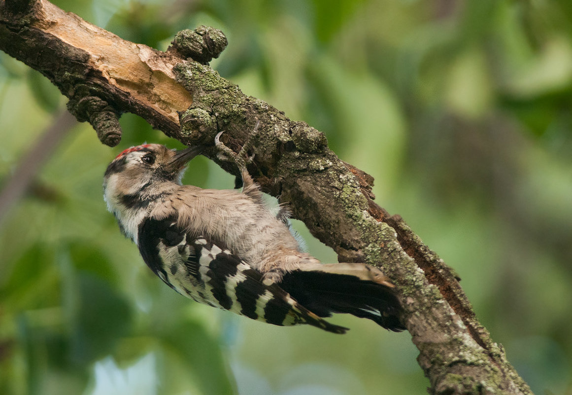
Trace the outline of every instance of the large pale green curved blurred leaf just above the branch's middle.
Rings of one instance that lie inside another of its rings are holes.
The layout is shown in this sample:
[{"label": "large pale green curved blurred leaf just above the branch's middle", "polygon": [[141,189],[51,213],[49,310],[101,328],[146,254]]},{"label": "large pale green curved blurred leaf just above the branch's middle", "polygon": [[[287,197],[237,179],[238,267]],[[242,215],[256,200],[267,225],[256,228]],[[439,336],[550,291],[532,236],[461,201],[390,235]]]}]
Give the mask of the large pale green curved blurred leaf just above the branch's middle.
[{"label": "large pale green curved blurred leaf just above the branch's middle", "polygon": [[[309,68],[316,89],[322,91],[320,96],[328,98],[340,133],[333,135],[338,140],[332,149],[358,168],[380,175],[386,187],[391,185],[399,174],[395,170],[403,157],[405,133],[394,92],[377,77],[340,68],[329,58],[315,61]],[[331,131],[327,132],[329,139]]]}]

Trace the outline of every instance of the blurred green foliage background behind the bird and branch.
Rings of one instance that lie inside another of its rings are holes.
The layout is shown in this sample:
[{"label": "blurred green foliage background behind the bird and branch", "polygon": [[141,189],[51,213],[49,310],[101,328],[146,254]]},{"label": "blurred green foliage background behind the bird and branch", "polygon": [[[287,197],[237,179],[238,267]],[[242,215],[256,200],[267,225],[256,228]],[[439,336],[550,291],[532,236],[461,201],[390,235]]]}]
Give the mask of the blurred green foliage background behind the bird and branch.
[{"label": "blurred green foliage background behind the bird and branch", "polygon": [[[572,2],[54,3],[161,50],[181,29],[223,30],[212,66],[371,173],[535,393],[572,394]],[[344,336],[264,325],[162,284],[106,211],[102,175],[130,145],[181,144],[126,114],[110,149],[88,124],[66,132],[64,109],[0,53],[0,186],[47,129],[63,135],[0,223],[1,394],[425,393],[407,333],[341,315]],[[185,183],[233,178],[198,157]]]}]

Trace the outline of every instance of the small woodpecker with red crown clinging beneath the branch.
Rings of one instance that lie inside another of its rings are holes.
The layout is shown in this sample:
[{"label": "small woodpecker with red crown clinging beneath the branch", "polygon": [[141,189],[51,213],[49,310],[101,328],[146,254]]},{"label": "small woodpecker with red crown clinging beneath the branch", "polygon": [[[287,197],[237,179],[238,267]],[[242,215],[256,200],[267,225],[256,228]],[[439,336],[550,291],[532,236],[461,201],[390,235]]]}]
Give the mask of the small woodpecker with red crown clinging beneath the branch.
[{"label": "small woodpecker with red crown clinging beneath the branch", "polygon": [[273,214],[247,171],[249,144],[237,154],[220,135],[219,155],[239,167],[242,191],[181,184],[203,147],[139,145],[106,169],[105,202],[147,266],[185,297],[274,325],[345,333],[323,317],[349,313],[405,329],[387,276],[368,264],[325,264],[302,251],[285,210]]}]

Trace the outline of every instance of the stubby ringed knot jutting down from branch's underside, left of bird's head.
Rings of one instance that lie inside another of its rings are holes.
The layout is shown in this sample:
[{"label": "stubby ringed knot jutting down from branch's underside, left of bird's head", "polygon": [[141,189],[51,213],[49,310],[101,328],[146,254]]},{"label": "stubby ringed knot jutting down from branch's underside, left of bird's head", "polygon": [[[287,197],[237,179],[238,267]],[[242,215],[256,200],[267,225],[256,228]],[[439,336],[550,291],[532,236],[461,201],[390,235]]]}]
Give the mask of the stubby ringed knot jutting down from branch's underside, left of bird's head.
[{"label": "stubby ringed knot jutting down from branch's underside, left of bird's head", "polygon": [[121,141],[121,126],[116,109],[97,96],[74,95],[67,109],[80,122],[88,121],[101,143],[115,147]]}]

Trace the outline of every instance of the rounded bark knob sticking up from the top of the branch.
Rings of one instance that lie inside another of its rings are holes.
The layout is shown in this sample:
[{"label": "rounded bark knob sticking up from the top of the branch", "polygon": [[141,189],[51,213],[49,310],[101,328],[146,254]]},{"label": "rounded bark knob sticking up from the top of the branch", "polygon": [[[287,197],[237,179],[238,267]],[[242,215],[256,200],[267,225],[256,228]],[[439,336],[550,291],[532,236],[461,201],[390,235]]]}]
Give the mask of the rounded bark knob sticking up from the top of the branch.
[{"label": "rounded bark knob sticking up from the top of the branch", "polygon": [[171,44],[182,56],[206,65],[227,48],[228,40],[219,29],[201,25],[179,31]]}]

